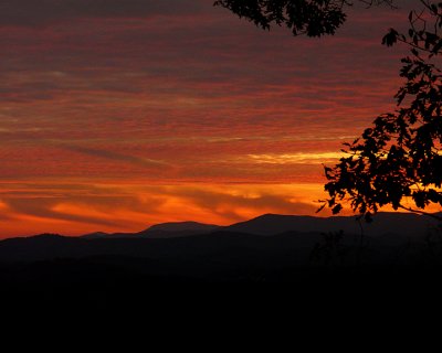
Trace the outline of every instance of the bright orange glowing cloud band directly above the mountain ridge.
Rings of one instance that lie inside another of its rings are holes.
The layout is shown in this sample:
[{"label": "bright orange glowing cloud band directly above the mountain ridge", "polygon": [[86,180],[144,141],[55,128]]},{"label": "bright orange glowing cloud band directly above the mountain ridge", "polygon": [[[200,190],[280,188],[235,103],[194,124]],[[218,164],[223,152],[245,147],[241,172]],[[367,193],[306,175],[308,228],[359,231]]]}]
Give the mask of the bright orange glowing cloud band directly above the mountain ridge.
[{"label": "bright orange glowing cloud band directly above the mountain ridge", "polygon": [[[231,224],[264,213],[314,214],[318,184],[2,185],[0,237],[56,232],[138,232],[171,221]],[[31,232],[31,233],[30,233]]]}]

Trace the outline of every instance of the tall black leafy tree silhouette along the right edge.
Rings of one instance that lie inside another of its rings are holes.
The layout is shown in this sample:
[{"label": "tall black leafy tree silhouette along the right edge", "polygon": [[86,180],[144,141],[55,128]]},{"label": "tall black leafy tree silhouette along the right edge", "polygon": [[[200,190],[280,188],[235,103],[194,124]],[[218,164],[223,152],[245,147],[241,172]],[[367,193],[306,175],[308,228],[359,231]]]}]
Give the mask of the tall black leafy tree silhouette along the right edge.
[{"label": "tall black leafy tree silhouette along the right edge", "polygon": [[406,83],[396,95],[398,109],[376,118],[360,138],[345,143],[347,157],[325,167],[329,199],[323,207],[335,214],[349,202],[368,220],[387,204],[442,220],[423,211],[442,205],[442,2],[420,2],[423,11],[410,12],[408,33],[391,29],[382,41],[410,46],[410,56],[402,58]]}]

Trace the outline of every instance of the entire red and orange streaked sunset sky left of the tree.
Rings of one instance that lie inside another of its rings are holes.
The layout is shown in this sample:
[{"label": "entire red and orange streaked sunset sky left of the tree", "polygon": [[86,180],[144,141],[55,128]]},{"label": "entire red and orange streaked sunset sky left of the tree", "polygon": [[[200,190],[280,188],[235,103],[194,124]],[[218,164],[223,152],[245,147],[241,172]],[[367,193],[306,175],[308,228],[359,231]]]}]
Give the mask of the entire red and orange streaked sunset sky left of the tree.
[{"label": "entire red and orange streaked sunset sky left of the tree", "polygon": [[317,40],[212,3],[1,1],[0,237],[315,214],[322,163],[394,109],[408,11]]}]

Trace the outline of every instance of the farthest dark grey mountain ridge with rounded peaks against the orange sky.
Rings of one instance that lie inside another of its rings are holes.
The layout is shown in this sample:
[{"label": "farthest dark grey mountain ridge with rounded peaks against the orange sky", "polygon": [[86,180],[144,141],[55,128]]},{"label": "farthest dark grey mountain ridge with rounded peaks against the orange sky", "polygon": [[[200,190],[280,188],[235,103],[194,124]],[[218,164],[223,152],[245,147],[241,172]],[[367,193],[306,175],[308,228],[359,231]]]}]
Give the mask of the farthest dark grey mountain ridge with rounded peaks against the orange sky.
[{"label": "farthest dark grey mountain ridge with rounded peaks against the orange sky", "polygon": [[138,233],[92,233],[84,238],[173,238],[210,234],[215,231],[244,233],[262,236],[277,235],[287,232],[328,233],[343,231],[346,234],[382,236],[398,234],[402,237],[421,237],[434,228],[438,222],[433,218],[410,213],[379,213],[372,223],[358,221],[355,216],[314,217],[296,215],[264,214],[250,221],[230,226],[202,224],[198,222],[175,222],[152,225]]}]

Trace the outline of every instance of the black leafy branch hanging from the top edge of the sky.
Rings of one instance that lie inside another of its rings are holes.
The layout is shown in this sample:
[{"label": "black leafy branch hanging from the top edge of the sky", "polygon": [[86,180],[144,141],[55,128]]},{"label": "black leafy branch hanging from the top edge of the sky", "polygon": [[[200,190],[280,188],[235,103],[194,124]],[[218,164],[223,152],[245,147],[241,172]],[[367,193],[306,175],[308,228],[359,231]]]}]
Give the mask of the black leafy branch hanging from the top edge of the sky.
[{"label": "black leafy branch hanging from the top edge of the sky", "polygon": [[[367,7],[381,3],[392,7],[393,0],[358,0]],[[214,6],[229,9],[240,18],[264,30],[272,24],[285,25],[294,35],[335,34],[346,20],[349,0],[218,0]]]}]

